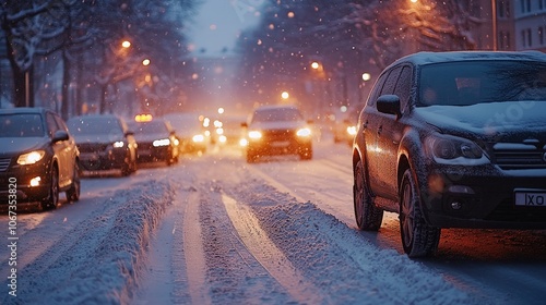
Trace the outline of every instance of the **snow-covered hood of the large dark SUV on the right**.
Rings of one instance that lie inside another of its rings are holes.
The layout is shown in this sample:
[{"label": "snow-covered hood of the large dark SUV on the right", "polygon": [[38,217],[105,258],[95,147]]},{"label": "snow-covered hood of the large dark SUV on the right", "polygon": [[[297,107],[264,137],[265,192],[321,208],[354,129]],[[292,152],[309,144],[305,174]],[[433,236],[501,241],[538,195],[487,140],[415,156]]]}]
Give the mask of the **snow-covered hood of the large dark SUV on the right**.
[{"label": "snow-covered hood of the large dark SUV on the right", "polygon": [[546,141],[546,101],[489,102],[415,108],[415,115],[442,131],[477,135],[533,135]]}]

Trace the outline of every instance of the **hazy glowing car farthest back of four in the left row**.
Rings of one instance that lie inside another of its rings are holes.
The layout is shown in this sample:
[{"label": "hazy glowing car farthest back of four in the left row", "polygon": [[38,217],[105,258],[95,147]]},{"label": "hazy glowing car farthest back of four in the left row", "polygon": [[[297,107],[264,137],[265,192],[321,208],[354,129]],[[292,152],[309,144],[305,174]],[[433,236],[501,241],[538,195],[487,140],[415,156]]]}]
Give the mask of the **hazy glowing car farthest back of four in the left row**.
[{"label": "hazy glowing car farthest back of four in the left row", "polygon": [[179,141],[180,154],[204,154],[209,147],[210,137],[205,136],[204,127],[195,113],[169,113],[163,119],[170,122]]}]

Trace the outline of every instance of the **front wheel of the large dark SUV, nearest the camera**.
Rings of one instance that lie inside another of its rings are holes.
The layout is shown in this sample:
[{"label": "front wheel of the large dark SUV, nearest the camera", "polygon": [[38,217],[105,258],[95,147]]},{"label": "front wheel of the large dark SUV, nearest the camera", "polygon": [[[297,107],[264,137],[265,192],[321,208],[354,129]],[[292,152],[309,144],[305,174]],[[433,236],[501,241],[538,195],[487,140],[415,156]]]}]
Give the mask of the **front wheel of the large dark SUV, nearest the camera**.
[{"label": "front wheel of the large dark SUV, nearest the camera", "polygon": [[400,234],[408,257],[430,256],[438,249],[440,229],[423,219],[417,184],[411,170],[406,170],[400,184]]}]

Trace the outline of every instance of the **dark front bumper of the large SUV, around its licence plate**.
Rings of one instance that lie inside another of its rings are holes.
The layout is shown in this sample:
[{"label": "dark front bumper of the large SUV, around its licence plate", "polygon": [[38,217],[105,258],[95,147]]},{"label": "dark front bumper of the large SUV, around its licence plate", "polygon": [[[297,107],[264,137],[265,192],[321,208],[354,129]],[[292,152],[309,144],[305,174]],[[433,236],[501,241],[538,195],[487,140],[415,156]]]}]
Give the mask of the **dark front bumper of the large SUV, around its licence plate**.
[{"label": "dark front bumper of the large SUV, around its licence plate", "polygon": [[[546,229],[545,181],[546,170],[435,170],[422,190],[425,218],[439,228]],[[517,205],[525,192],[536,197]]]}]

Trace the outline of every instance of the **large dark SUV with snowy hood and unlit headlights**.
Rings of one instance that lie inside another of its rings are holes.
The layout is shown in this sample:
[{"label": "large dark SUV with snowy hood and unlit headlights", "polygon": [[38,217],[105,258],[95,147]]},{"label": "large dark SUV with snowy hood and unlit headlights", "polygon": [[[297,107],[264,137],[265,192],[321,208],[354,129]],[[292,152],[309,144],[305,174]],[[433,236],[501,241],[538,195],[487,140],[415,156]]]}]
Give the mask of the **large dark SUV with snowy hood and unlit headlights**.
[{"label": "large dark SUV with snowy hood and unlit headlights", "polygon": [[546,228],[546,54],[422,52],[388,66],[360,113],[354,207],[363,230],[400,213],[405,253],[441,228]]}]

